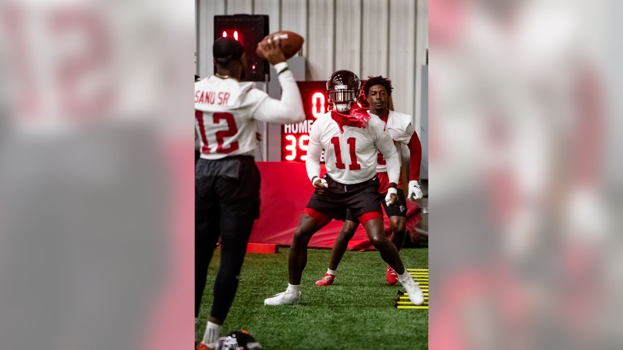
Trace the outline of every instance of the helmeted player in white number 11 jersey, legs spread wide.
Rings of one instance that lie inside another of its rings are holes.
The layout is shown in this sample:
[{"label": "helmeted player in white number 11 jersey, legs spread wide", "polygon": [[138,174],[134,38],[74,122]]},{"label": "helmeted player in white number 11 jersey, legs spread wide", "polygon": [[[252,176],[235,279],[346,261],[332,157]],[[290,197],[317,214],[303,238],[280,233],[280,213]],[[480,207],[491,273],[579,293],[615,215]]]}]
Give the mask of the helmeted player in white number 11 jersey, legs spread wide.
[{"label": "helmeted player in white number 11 jersey, legs spread wide", "polygon": [[[307,264],[307,245],[312,235],[331,219],[346,219],[346,209],[366,228],[369,239],[381,257],[399,273],[398,279],[412,303],[424,302],[422,291],[404,268],[396,247],[383,230],[383,215],[379,203],[379,179],[376,176],[377,149],[385,156],[389,189],[386,205],[397,202],[397,182],[400,159],[394,142],[384,131],[385,124],[378,116],[370,115],[356,104],[361,82],[353,72],[338,70],[326,83],[328,100],[333,107],[320,116],[312,126],[307,149],[307,175],[315,192],[294,233],[288,258],[288,288],[265,305],[285,305],[300,300],[300,282]],[[320,176],[320,154],[325,150],[326,174]]]}]

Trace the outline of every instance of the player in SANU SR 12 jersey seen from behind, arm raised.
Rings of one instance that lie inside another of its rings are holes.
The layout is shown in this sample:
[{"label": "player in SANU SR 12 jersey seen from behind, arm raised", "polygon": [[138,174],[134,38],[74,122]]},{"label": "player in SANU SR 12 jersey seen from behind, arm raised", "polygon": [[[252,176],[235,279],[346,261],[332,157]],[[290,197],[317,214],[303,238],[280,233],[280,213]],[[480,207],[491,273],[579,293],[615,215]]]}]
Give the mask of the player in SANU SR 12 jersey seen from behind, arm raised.
[{"label": "player in SANU SR 12 jersey seen from behind, arm raised", "polygon": [[299,123],[305,119],[297,83],[280,45],[261,42],[260,54],[275,66],[281,100],[240,82],[242,45],[221,37],[212,48],[216,73],[195,83],[195,125],[201,158],[195,167],[195,323],[207,267],[221,237],[221,267],[206,333],[197,349],[214,348],[238,287],[253,222],[259,215],[260,174],[255,166],[255,121]]}]

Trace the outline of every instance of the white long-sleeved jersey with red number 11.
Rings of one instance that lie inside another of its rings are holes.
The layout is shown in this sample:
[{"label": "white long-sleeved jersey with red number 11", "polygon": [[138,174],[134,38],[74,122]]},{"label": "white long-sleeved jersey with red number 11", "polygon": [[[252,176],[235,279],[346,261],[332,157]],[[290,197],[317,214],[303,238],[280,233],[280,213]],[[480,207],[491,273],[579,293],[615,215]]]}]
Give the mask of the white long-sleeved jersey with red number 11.
[{"label": "white long-sleeved jersey with red number 11", "polygon": [[[357,184],[364,182],[376,174],[377,149],[383,153],[388,161],[397,163],[400,168],[398,154],[394,142],[384,131],[385,123],[376,115],[366,124],[366,128],[356,126],[340,126],[331,118],[331,112],[320,116],[312,125],[308,143],[308,174],[315,173],[315,154],[325,149],[326,173],[337,182],[343,184]],[[313,162],[313,163],[311,163]],[[310,167],[313,164],[314,168]],[[392,177],[396,177],[398,171]]]}]

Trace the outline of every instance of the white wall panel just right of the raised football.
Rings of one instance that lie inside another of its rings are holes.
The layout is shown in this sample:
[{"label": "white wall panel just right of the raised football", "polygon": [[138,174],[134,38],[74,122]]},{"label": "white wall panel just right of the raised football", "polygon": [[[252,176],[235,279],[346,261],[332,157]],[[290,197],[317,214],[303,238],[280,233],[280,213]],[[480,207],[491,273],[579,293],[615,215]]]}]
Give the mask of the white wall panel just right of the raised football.
[{"label": "white wall panel just right of the raised football", "polygon": [[309,2],[307,33],[307,80],[326,80],[333,68],[335,54],[335,7],[333,0]]}]

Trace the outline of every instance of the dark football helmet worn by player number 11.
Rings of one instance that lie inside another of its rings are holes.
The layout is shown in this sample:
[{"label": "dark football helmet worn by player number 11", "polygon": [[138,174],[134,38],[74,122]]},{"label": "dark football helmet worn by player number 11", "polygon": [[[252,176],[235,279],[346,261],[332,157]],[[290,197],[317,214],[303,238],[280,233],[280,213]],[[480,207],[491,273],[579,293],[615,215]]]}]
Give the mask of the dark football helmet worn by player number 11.
[{"label": "dark football helmet worn by player number 11", "polygon": [[326,82],[326,95],[331,108],[347,112],[361,94],[361,80],[350,70],[338,70]]}]

